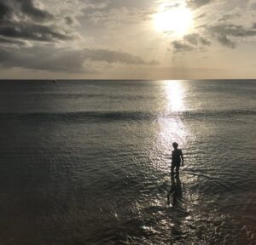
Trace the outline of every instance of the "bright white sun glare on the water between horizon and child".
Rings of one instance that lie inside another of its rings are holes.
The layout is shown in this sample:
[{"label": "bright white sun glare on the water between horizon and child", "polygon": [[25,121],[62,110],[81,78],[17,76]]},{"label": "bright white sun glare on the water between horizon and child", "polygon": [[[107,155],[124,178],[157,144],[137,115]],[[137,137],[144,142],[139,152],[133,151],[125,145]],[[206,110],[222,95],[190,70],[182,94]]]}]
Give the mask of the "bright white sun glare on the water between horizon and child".
[{"label": "bright white sun glare on the water between horizon and child", "polygon": [[183,122],[185,106],[185,85],[183,81],[161,81],[161,98],[165,101],[158,118],[159,134],[155,145],[154,154],[158,155],[158,168],[161,171],[169,171],[171,164],[172,143],[176,141],[180,148],[186,145],[189,130]]}]

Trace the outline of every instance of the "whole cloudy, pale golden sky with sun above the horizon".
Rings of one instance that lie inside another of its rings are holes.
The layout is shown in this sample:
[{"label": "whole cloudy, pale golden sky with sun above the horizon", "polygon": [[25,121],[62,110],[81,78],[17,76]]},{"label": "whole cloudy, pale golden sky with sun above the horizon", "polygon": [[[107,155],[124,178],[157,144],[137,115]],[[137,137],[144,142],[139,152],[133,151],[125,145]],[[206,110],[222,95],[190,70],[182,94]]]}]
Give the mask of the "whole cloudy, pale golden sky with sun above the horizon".
[{"label": "whole cloudy, pale golden sky with sun above the horizon", "polygon": [[256,77],[256,0],[0,0],[0,79]]}]

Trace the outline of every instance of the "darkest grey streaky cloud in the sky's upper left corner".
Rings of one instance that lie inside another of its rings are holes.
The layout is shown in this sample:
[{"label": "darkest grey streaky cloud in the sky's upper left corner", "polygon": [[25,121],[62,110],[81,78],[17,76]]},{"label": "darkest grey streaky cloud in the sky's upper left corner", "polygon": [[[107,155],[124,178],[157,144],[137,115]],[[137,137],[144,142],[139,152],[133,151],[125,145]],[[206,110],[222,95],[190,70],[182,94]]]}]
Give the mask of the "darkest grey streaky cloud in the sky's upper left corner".
[{"label": "darkest grey streaky cloud in the sky's upper left corner", "polygon": [[20,39],[55,42],[75,37],[65,31],[65,26],[55,25],[53,15],[36,8],[32,0],[0,0],[0,20],[0,37],[13,39],[7,43],[17,44]]}]

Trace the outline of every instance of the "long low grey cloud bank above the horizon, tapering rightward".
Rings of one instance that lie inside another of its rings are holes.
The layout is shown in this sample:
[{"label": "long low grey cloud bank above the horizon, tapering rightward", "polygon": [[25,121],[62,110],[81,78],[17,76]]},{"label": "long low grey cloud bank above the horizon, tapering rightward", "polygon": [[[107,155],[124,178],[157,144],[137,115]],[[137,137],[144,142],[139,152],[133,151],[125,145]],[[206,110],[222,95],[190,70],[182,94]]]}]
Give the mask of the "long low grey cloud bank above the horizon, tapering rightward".
[{"label": "long low grey cloud bank above the horizon, tapering rightward", "polygon": [[[0,49],[0,65],[4,67],[85,72],[88,66],[90,66],[90,70],[94,69],[94,62],[142,66],[156,66],[160,64],[156,60],[148,62],[137,55],[103,48],[84,48],[80,50],[49,47]],[[85,64],[87,65],[85,66]]]}]

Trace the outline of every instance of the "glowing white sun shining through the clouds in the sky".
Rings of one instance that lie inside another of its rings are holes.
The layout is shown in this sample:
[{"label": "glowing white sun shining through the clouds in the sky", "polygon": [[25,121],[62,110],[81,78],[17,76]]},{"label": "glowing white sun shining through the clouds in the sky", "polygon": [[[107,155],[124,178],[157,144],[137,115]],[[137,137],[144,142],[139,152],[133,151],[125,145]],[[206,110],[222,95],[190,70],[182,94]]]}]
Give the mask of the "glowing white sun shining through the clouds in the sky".
[{"label": "glowing white sun shining through the clouds in the sky", "polygon": [[176,8],[161,6],[160,11],[154,14],[154,27],[156,31],[168,32],[177,37],[183,37],[193,26],[193,14],[185,6]]}]

